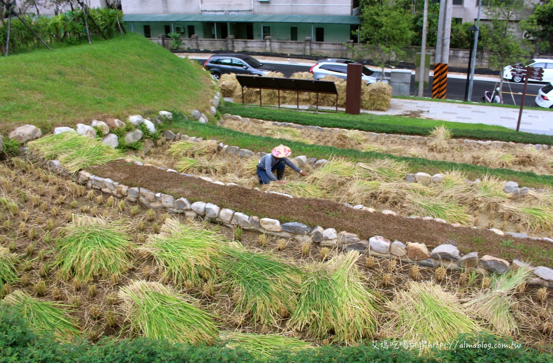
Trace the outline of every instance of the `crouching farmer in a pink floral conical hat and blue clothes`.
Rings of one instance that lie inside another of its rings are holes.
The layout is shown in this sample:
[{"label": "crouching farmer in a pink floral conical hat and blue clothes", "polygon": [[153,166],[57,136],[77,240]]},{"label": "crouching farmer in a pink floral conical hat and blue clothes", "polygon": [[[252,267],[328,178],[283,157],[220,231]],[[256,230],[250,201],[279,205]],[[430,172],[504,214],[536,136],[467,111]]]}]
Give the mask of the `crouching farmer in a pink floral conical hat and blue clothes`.
[{"label": "crouching farmer in a pink floral conical hat and blue clothes", "polygon": [[[270,154],[263,156],[261,160],[259,160],[259,164],[257,164],[259,184],[269,184],[270,181],[286,184],[286,182],[282,180],[286,165],[299,172],[301,175],[307,176],[305,171],[300,170],[299,167],[288,160],[290,154],[292,154],[292,150],[290,150],[288,146],[278,145]],[[273,174],[275,170],[276,177]]]}]

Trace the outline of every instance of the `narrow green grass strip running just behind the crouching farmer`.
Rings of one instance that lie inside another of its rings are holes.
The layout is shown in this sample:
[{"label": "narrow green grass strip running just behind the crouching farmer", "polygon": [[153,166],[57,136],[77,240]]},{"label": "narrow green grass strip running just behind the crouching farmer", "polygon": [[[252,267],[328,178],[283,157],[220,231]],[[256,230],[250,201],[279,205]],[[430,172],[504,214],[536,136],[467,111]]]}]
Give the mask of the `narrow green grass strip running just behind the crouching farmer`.
[{"label": "narrow green grass strip running just behind the crouching farmer", "polygon": [[179,112],[173,114],[173,130],[181,133],[190,134],[190,136],[203,137],[205,140],[216,139],[228,145],[237,145],[243,149],[253,152],[269,152],[275,145],[285,144],[290,146],[294,155],[307,155],[307,157],[317,157],[317,159],[328,159],[329,156],[343,156],[356,161],[367,161],[371,159],[382,159],[388,157],[399,161],[406,161],[411,166],[413,172],[427,172],[430,174],[440,173],[448,170],[461,170],[466,172],[468,177],[480,178],[484,175],[492,175],[502,180],[512,180],[518,182],[521,186],[540,188],[544,185],[553,187],[552,175],[538,175],[529,171],[515,171],[511,169],[492,169],[486,166],[461,164],[451,161],[429,160],[418,157],[395,156],[391,154],[382,154],[375,151],[359,151],[354,149],[339,149],[333,146],[324,146],[316,144],[304,144],[297,141],[286,139],[275,139],[269,136],[258,136],[242,133],[223,127],[217,127],[211,124],[201,124],[197,122],[182,121]]}]

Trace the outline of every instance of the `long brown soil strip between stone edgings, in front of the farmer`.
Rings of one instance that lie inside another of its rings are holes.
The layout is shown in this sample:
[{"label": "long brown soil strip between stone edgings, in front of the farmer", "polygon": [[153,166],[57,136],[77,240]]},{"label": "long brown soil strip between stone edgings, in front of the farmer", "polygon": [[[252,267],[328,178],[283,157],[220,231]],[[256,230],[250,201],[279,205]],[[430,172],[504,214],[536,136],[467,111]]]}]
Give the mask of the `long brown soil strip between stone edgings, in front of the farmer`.
[{"label": "long brown soil strip between stone edgings, in front of the farmer", "polygon": [[138,166],[124,161],[111,162],[87,170],[131,187],[185,197],[190,202],[203,201],[231,208],[248,215],[258,215],[285,222],[301,222],[310,227],[335,228],[338,232],[357,233],[368,239],[374,235],[434,247],[453,243],[464,253],[478,251],[512,260],[519,258],[534,264],[553,266],[553,244],[532,239],[515,239],[510,245],[486,229],[452,227],[449,224],[359,211],[325,199],[287,198],[243,187],[216,185],[196,177],[163,172],[154,166]]}]

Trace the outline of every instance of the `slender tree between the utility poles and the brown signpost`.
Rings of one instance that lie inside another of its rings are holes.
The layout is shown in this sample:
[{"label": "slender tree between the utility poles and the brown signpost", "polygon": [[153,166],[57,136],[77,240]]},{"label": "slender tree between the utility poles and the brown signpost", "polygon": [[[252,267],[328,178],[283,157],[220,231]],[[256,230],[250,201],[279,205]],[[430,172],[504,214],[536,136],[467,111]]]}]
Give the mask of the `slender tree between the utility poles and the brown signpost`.
[{"label": "slender tree between the utility poles and the brown signpost", "polygon": [[524,0],[490,0],[484,9],[489,24],[482,28],[484,49],[489,51],[488,66],[499,70],[499,98],[503,103],[503,68],[522,62],[528,57],[528,41],[518,33],[524,11]]}]

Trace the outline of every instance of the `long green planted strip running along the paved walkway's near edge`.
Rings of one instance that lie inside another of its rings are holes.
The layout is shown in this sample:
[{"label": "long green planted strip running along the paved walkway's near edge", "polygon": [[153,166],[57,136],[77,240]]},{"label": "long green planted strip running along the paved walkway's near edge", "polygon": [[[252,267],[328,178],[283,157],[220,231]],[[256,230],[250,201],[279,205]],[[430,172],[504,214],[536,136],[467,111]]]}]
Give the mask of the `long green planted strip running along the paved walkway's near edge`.
[{"label": "long green planted strip running along the paved walkway's near edge", "polygon": [[494,125],[468,124],[409,118],[395,115],[348,115],[340,112],[309,113],[290,109],[273,109],[265,107],[243,107],[236,103],[225,103],[219,108],[221,113],[241,115],[242,117],[258,118],[278,122],[292,122],[301,125],[312,125],[328,128],[343,128],[362,130],[374,133],[402,135],[430,135],[432,128],[445,125],[451,129],[453,138],[468,138],[477,140],[513,141],[524,144],[553,144],[553,136],[516,132],[514,130]]}]

